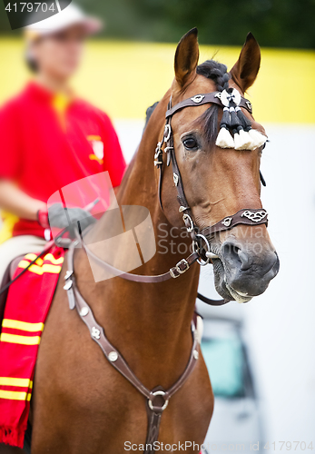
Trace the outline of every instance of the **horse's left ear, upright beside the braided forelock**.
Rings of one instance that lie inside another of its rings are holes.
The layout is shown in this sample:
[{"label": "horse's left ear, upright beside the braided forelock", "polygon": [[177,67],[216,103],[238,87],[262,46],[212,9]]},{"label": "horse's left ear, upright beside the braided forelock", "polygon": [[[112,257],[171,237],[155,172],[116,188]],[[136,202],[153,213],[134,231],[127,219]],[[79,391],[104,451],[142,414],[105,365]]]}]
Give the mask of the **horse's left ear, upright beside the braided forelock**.
[{"label": "horse's left ear, upright beside the braided forelock", "polygon": [[196,69],[199,59],[198,30],[192,28],[186,35],[182,36],[175,53],[175,78],[177,83],[183,87]]}]

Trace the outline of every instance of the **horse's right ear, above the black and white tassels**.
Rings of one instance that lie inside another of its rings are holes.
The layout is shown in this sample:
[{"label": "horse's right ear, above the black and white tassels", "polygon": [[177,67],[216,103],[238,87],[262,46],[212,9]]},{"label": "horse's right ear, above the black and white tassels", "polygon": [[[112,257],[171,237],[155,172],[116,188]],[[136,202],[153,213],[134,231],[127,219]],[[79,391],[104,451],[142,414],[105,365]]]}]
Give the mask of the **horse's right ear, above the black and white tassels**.
[{"label": "horse's right ear, above the black and white tassels", "polygon": [[239,60],[231,68],[231,78],[245,93],[255,82],[261,66],[261,48],[251,32],[246,36]]}]

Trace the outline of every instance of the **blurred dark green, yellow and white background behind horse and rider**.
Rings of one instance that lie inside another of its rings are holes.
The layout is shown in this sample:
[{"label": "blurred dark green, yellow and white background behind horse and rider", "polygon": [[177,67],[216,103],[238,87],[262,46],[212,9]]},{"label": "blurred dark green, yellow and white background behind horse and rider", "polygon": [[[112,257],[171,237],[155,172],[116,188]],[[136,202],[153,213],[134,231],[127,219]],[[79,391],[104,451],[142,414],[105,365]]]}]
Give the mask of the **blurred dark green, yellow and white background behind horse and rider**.
[{"label": "blurred dark green, yellow and white background behind horse and rider", "polygon": [[[249,31],[261,44],[261,71],[249,98],[271,139],[261,163],[267,182],[262,202],[281,271],[248,304],[199,305],[203,351],[217,396],[207,441],[217,450],[221,443],[234,443],[229,450],[236,450],[235,443],[243,442],[250,452],[258,441],[261,452],[315,449],[314,0],[78,3],[104,19],[106,29],[88,43],[74,89],[110,114],[128,162],[141,139],[146,108],[172,83],[173,55],[184,33],[198,26],[200,62],[215,55],[229,68]],[[29,74],[23,41],[19,31],[11,31],[4,8],[0,32],[3,104]],[[201,291],[216,297],[210,282],[212,269],[206,267]],[[281,449],[282,441],[292,445]]]}]

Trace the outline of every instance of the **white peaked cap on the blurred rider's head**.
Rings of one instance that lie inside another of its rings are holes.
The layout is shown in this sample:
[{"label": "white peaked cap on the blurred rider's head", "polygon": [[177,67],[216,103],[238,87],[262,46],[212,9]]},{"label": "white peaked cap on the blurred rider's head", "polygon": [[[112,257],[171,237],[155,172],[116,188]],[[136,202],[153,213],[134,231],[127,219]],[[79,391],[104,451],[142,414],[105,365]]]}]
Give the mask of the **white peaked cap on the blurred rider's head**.
[{"label": "white peaked cap on the blurred rider's head", "polygon": [[[56,2],[59,5],[59,2]],[[43,21],[25,27],[26,38],[31,40],[44,35],[58,33],[73,25],[83,25],[86,35],[93,35],[102,29],[102,21],[95,17],[85,15],[81,8],[71,3],[60,13],[52,15]]]}]

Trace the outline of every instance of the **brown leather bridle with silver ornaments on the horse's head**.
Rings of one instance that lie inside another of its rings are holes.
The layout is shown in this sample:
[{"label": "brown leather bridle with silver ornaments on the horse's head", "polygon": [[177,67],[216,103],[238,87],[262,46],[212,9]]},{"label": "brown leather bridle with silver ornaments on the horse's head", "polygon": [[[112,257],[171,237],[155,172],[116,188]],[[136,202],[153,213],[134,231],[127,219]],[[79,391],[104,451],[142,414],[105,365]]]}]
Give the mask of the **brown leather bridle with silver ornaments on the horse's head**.
[{"label": "brown leather bridle with silver ornaments on the horse's head", "polygon": [[[238,93],[238,92],[237,92]],[[173,182],[177,188],[177,200],[180,203],[179,212],[182,213],[182,221],[185,224],[187,232],[192,237],[192,250],[199,254],[197,262],[201,265],[206,265],[211,261],[212,252],[209,238],[214,233],[231,230],[239,224],[246,225],[268,225],[268,213],[263,208],[249,209],[243,208],[235,214],[231,214],[216,224],[205,227],[202,231],[193,221],[192,209],[187,202],[185,192],[183,189],[182,176],[174,149],[174,141],[172,135],[172,116],[185,107],[194,107],[202,104],[217,104],[223,107],[221,103],[222,92],[212,92],[208,94],[195,94],[191,98],[187,98],[182,102],[172,106],[172,96],[170,98],[167,111],[165,114],[166,123],[162,141],[157,143],[154,153],[154,165],[159,169],[159,201],[162,208],[162,174],[163,174],[163,153],[166,153],[166,165],[172,163],[172,176]],[[252,113],[251,102],[240,95],[239,106],[246,109],[250,114]],[[163,208],[162,208],[163,210]],[[202,251],[205,250],[205,251]]]}]

